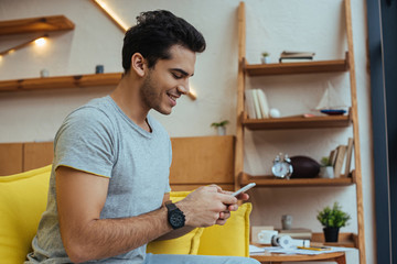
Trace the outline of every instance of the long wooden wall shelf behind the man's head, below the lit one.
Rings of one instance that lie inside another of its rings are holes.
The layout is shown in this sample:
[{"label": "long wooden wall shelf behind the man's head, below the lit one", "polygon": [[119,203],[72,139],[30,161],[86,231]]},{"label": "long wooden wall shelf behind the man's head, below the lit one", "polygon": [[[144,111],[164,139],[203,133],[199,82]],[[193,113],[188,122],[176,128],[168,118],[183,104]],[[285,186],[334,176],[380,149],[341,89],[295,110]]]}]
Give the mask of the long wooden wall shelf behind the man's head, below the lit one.
[{"label": "long wooden wall shelf behind the man's head, below the lit one", "polygon": [[117,85],[121,73],[57,76],[46,78],[30,78],[0,81],[1,91],[57,89],[57,88],[82,88],[90,86]]}]

